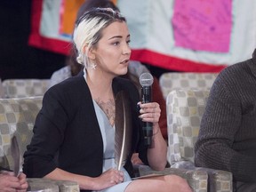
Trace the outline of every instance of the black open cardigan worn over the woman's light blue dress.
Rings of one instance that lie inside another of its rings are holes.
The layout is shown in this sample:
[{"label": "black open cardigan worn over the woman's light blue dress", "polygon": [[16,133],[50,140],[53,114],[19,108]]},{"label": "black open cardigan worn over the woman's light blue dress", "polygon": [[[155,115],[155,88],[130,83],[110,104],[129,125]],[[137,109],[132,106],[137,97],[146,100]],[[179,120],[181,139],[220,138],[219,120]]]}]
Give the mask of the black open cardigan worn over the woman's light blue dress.
[{"label": "black open cardigan worn over the woman's light blue dress", "polygon": [[[132,152],[138,151],[145,164],[147,147],[143,145],[136,87],[116,77],[113,91],[124,90],[132,103]],[[68,172],[97,177],[102,173],[103,142],[93,107],[92,95],[83,74],[52,86],[44,94],[43,107],[36,116],[34,135],[24,154],[23,172],[41,178],[59,167]],[[130,158],[129,158],[130,159]],[[125,164],[133,176],[132,163]]]}]

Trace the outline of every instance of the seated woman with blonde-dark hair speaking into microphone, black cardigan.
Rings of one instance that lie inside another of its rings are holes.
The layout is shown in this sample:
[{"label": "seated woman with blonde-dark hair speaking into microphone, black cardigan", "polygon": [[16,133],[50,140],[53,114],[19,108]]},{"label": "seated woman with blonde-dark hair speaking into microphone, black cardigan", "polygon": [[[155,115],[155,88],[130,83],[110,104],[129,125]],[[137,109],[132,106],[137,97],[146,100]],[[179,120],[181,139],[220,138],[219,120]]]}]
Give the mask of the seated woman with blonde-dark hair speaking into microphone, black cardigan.
[{"label": "seated woman with blonde-dark hair speaking into microphone, black cardigan", "polygon": [[[159,131],[159,105],[140,103],[134,84],[118,77],[127,73],[131,56],[124,17],[110,8],[85,12],[77,20],[73,40],[84,73],[44,94],[24,154],[23,172],[28,177],[75,180],[86,191],[190,191],[186,180],[178,176],[131,180],[134,151],[144,164],[163,170],[167,146]],[[131,108],[126,112],[132,115],[132,140],[128,141],[132,148],[121,170],[115,163],[115,100],[119,92],[126,93]],[[151,148],[143,143],[141,121],[153,124]]]}]

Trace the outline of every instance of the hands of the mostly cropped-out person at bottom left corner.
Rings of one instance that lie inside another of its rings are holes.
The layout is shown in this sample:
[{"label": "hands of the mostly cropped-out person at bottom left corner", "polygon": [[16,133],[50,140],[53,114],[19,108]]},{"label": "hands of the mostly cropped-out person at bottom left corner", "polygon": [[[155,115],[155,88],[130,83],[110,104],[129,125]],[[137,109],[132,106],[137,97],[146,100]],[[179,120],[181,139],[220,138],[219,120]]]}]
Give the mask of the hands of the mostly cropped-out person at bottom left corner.
[{"label": "hands of the mostly cropped-out person at bottom left corner", "polygon": [[24,173],[21,172],[17,178],[14,176],[14,172],[0,172],[0,192],[25,192],[27,188],[28,183]]}]

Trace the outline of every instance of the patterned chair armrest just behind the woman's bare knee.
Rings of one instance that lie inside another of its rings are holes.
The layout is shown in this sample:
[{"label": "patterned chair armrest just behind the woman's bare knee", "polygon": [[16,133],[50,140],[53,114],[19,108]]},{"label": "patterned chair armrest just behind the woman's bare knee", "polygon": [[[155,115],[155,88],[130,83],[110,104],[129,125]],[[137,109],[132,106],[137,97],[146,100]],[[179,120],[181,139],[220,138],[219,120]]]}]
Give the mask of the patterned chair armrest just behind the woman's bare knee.
[{"label": "patterned chair armrest just behind the woman's bare knee", "polygon": [[193,192],[206,192],[207,191],[207,181],[208,174],[203,170],[188,170],[188,169],[177,169],[177,168],[165,168],[163,171],[154,171],[147,165],[139,166],[140,176],[160,173],[164,175],[178,175],[181,178],[188,181],[188,185],[192,188]]}]

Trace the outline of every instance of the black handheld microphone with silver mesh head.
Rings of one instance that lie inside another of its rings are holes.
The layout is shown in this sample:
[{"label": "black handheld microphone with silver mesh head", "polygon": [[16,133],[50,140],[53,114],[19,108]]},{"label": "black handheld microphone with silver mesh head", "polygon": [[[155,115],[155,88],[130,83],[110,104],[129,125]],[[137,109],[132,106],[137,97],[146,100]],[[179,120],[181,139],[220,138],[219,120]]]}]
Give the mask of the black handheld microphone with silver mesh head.
[{"label": "black handheld microphone with silver mesh head", "polygon": [[[143,73],[140,75],[140,85],[142,103],[148,103],[152,100],[152,89],[151,85],[153,84],[153,76],[150,73]],[[144,135],[144,144],[146,146],[151,146],[152,135],[153,135],[153,124],[150,122],[142,122],[142,132]]]}]

